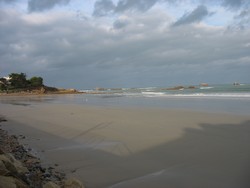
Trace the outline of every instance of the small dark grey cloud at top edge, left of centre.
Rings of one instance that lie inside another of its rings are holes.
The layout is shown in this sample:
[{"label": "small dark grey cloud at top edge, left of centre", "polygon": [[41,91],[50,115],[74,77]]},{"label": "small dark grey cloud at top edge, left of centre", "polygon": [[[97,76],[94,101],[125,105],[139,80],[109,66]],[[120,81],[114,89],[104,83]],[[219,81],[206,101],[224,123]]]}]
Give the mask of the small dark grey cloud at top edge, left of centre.
[{"label": "small dark grey cloud at top edge, left of centre", "polygon": [[29,0],[28,10],[30,12],[52,9],[56,5],[67,5],[71,0]]}]

